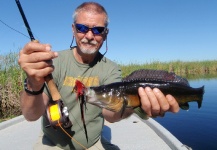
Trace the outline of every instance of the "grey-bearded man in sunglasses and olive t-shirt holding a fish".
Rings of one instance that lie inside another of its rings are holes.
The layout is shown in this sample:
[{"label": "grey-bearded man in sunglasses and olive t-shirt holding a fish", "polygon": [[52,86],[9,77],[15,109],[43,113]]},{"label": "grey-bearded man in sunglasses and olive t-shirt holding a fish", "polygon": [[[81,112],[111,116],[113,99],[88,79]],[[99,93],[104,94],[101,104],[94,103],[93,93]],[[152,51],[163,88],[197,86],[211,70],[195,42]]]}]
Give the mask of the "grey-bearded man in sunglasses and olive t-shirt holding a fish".
[{"label": "grey-bearded man in sunglasses and olive t-shirt holding a fish", "polygon": [[[121,81],[121,71],[117,64],[99,52],[108,34],[108,16],[105,9],[98,3],[87,2],[77,7],[73,17],[72,29],[76,47],[57,53],[51,50],[49,44],[30,42],[20,51],[19,64],[27,75],[26,90],[21,94],[23,115],[29,121],[35,121],[42,116],[43,134],[35,149],[87,149],[91,146],[92,149],[101,149],[96,143],[100,141],[104,119],[116,122],[133,113],[133,109],[127,108],[122,116],[121,112],[115,113],[86,104],[84,118],[88,132],[87,141],[80,106],[73,91],[75,80],[80,80],[86,86],[105,85]],[[60,128],[45,128],[49,124],[45,112],[51,98],[46,88],[44,92],[40,91],[43,90],[45,77],[50,73],[64,105],[68,107],[69,119],[73,124],[65,130],[77,142]],[[31,91],[37,94],[31,94]],[[162,116],[167,111],[179,110],[174,97],[163,95],[159,89],[139,88],[138,93],[141,108],[148,116]],[[102,143],[105,143],[105,139]],[[106,145],[108,147],[105,147]],[[117,149],[108,143],[103,146],[105,149]]]}]

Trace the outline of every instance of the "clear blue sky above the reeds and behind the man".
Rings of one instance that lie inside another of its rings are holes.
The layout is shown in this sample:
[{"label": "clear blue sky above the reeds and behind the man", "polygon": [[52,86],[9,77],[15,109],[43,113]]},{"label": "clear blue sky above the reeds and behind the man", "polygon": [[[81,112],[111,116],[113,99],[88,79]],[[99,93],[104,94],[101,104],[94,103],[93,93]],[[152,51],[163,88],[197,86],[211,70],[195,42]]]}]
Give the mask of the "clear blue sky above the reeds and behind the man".
[{"label": "clear blue sky above the reeds and behind the man", "polygon": [[[69,48],[72,14],[82,2],[20,0],[33,35],[53,51]],[[95,2],[110,20],[105,56],[117,63],[217,60],[217,0]],[[15,0],[0,0],[0,54],[19,52],[30,41],[23,34],[28,37]]]}]

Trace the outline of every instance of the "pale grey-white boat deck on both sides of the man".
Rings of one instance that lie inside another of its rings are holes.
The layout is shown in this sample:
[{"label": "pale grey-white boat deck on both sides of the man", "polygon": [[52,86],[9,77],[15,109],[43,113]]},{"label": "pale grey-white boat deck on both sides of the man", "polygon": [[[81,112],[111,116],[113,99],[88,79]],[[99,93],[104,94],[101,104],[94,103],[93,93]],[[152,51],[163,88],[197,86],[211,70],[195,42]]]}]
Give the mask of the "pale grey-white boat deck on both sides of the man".
[{"label": "pale grey-white boat deck on both sides of the man", "polygon": [[[23,116],[0,123],[0,150],[31,150],[40,133],[40,119],[28,122]],[[105,122],[103,135],[121,150],[186,150],[168,130],[153,119],[136,115],[116,123]]]}]

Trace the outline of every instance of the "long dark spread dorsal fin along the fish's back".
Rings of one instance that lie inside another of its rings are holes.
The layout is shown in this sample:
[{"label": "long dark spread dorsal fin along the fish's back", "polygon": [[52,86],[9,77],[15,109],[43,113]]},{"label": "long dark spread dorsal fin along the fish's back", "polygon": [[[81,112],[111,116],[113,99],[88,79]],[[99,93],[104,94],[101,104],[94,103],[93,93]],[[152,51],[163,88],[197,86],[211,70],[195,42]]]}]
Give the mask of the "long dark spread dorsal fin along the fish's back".
[{"label": "long dark spread dorsal fin along the fish's back", "polygon": [[189,86],[187,79],[177,76],[173,72],[165,70],[140,69],[123,78],[123,82],[147,81],[147,82],[171,82]]}]

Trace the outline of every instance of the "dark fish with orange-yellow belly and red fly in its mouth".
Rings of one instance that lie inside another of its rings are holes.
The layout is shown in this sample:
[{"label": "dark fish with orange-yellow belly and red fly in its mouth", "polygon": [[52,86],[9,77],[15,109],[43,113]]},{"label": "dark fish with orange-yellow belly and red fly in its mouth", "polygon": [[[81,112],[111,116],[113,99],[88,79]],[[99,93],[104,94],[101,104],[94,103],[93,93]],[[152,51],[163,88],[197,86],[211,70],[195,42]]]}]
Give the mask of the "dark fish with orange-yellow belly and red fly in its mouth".
[{"label": "dark fish with orange-yellow belly and red fly in its mouth", "polygon": [[114,112],[140,107],[139,87],[158,88],[165,95],[171,94],[184,110],[189,109],[189,102],[197,102],[198,108],[202,106],[204,85],[191,87],[186,78],[165,70],[140,69],[121,82],[101,86],[85,87],[79,80],[75,83],[77,97],[82,96],[85,102]]}]

